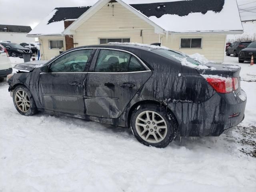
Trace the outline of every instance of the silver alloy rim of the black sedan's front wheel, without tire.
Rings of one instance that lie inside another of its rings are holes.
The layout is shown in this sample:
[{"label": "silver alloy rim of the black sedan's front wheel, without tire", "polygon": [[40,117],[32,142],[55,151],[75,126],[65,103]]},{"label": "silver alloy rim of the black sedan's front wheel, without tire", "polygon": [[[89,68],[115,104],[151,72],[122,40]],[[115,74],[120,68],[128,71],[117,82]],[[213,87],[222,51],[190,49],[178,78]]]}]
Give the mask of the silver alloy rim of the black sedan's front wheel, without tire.
[{"label": "silver alloy rim of the black sedan's front wheel, without tire", "polygon": [[16,91],[14,99],[15,99],[15,104],[17,108],[21,112],[23,113],[28,112],[30,108],[30,100],[29,100],[28,94],[24,90]]}]

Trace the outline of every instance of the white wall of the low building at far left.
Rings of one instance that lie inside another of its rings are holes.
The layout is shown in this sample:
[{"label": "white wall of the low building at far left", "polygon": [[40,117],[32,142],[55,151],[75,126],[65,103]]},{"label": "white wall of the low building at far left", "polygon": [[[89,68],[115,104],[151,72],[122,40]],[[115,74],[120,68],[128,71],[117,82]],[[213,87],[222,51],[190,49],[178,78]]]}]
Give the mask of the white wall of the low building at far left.
[{"label": "white wall of the low building at far left", "polygon": [[35,42],[35,38],[27,37],[27,33],[0,32],[0,41],[10,41],[12,43]]}]

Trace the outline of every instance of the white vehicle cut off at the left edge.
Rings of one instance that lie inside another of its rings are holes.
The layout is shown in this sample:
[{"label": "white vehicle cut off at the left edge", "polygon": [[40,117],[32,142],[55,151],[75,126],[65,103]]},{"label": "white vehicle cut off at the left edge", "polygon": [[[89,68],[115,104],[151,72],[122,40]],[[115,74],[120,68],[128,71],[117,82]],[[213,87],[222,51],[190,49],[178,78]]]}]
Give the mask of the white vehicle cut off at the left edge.
[{"label": "white vehicle cut off at the left edge", "polygon": [[11,73],[12,65],[8,52],[4,46],[0,45],[0,81],[4,80],[4,77]]}]

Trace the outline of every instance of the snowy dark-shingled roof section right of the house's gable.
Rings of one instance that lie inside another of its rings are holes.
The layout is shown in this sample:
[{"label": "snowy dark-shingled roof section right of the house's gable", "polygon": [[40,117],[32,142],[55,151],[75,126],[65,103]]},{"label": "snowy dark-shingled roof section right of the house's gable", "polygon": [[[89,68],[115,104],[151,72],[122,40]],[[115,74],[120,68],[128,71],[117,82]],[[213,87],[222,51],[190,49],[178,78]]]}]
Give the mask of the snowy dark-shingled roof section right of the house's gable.
[{"label": "snowy dark-shingled roof section right of the house's gable", "polygon": [[131,6],[169,32],[243,30],[236,0],[192,0]]}]

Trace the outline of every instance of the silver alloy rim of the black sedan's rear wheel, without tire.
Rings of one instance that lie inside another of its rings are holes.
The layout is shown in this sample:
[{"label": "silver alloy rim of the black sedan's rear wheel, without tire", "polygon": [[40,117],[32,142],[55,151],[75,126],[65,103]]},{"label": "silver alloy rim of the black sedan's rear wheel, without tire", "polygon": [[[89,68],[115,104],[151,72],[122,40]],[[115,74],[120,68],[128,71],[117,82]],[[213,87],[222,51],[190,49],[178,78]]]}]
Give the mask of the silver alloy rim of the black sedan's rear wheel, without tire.
[{"label": "silver alloy rim of the black sedan's rear wheel, without tire", "polygon": [[135,126],[139,136],[149,143],[161,142],[167,134],[166,121],[154,111],[140,113],[136,118]]}]

